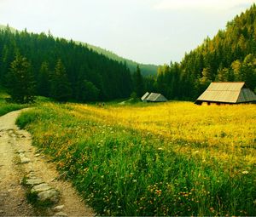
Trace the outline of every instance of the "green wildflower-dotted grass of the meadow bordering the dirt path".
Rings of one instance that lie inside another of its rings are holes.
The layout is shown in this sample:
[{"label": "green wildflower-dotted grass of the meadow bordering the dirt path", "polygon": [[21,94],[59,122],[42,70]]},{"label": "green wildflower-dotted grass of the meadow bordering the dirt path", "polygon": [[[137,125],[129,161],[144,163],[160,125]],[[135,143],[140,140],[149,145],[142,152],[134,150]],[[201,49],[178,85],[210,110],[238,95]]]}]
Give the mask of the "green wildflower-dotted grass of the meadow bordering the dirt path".
[{"label": "green wildflower-dotted grass of the meadow bordering the dirt path", "polygon": [[[224,160],[202,146],[195,151],[198,143],[118,124],[121,119],[97,120],[100,111],[84,107],[81,112],[73,105],[44,104],[17,123],[29,129],[35,146],[55,157],[97,214],[255,214],[255,156]],[[194,148],[185,152],[184,146]],[[212,149],[223,153],[226,146]]]}]

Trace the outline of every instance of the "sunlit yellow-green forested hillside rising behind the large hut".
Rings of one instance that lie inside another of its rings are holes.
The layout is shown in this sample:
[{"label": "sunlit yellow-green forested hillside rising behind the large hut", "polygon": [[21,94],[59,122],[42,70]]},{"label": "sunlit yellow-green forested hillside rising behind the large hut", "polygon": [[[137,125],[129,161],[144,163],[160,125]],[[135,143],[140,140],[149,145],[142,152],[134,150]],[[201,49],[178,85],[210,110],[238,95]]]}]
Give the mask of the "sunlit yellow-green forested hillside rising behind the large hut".
[{"label": "sunlit yellow-green forested hillside rising behind the large hut", "polygon": [[[224,31],[185,54],[180,63],[161,66],[151,87],[168,99],[195,100],[213,81],[245,81],[256,88],[256,6],[230,22]],[[182,43],[182,42],[181,42]],[[154,84],[153,84],[154,83]]]}]

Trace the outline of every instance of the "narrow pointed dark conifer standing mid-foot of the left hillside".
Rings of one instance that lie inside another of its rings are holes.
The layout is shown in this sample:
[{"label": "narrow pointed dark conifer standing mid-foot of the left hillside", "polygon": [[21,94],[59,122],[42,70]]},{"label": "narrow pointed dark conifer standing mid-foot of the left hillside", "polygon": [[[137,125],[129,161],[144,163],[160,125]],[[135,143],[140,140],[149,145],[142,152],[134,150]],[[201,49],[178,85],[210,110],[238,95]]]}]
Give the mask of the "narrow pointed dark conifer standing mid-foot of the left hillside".
[{"label": "narrow pointed dark conifer standing mid-foot of the left hillside", "polygon": [[72,96],[71,85],[67,80],[66,68],[59,59],[51,82],[51,96],[58,101],[66,101]]}]

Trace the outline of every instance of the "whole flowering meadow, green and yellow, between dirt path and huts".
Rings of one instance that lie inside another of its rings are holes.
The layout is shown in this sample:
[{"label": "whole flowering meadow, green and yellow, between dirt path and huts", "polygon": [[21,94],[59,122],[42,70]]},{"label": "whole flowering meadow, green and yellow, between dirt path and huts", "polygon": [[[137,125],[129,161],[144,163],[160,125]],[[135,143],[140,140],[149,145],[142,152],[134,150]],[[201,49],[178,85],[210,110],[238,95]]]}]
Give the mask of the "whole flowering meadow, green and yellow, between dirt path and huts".
[{"label": "whole flowering meadow, green and yellow, between dirt path and huts", "polygon": [[255,108],[46,102],[17,123],[99,215],[254,215]]}]

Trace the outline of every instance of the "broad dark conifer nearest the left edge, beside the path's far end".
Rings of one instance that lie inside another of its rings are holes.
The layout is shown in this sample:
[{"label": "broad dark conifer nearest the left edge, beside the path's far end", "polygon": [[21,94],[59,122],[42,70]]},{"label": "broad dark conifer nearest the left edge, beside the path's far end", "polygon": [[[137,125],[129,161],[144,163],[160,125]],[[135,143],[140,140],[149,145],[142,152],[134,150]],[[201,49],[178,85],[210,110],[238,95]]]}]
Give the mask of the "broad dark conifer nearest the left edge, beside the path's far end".
[{"label": "broad dark conifer nearest the left edge, beside the path's far end", "polygon": [[34,100],[35,82],[32,67],[20,54],[16,55],[10,65],[7,82],[12,100],[18,103],[28,103]]}]

